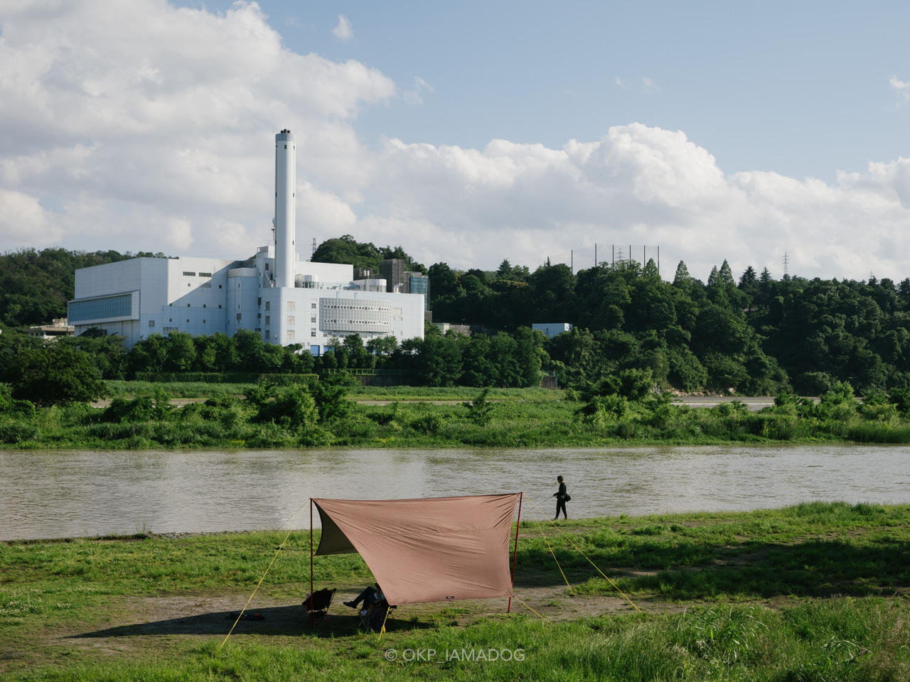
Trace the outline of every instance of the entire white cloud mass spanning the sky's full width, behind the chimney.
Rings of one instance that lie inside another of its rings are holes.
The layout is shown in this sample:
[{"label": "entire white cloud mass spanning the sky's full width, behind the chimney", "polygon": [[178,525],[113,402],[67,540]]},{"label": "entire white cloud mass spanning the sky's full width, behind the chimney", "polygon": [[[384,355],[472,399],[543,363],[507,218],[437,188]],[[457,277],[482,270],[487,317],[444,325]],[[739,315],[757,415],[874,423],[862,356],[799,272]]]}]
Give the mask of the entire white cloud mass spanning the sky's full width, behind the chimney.
[{"label": "entire white cloud mass spanning the sky's full width, behind the chimney", "polygon": [[[402,99],[428,92],[416,78]],[[395,93],[357,61],[289,51],[254,4],[5,6],[0,250],[248,256],[271,235],[273,135],[290,128],[303,255],[314,237],[351,234],[428,264],[535,267],[646,243],[670,275],[680,259],[704,278],[728,258],[779,276],[784,251],[805,276],[910,275],[910,159],[833,183],[727,175],[681,131],[641,124],[558,148],[387,139],[371,151],[359,110]]]}]

